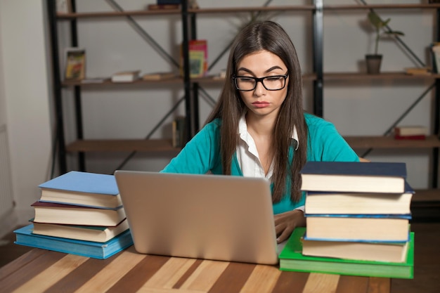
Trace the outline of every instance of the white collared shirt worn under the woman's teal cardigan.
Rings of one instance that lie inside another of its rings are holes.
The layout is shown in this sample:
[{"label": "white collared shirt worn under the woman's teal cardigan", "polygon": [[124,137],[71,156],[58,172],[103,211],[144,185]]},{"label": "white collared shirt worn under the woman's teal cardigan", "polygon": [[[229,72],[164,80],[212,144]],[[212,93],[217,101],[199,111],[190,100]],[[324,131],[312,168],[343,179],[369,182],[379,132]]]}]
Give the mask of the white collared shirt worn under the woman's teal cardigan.
[{"label": "white collared shirt worn under the woman's teal cardigan", "polygon": [[[238,122],[238,134],[240,139],[238,140],[237,159],[243,176],[266,178],[271,181],[273,175],[273,160],[271,162],[271,167],[269,167],[267,174],[265,174],[264,168],[259,159],[257,145],[255,145],[254,138],[252,138],[247,131],[245,115],[242,115]],[[295,150],[297,150],[299,139],[297,128],[295,126],[293,128],[292,138],[296,141]],[[296,209],[304,212],[304,206],[297,207]]]}]

